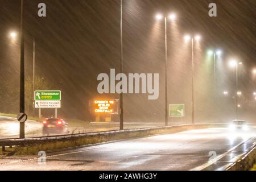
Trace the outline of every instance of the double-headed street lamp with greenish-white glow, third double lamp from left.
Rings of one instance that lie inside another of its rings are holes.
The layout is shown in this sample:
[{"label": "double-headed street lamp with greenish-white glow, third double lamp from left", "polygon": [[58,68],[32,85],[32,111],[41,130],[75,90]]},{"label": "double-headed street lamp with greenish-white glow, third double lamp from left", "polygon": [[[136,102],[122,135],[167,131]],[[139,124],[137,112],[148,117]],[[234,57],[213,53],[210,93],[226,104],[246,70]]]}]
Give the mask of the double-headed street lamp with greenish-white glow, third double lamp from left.
[{"label": "double-headed street lamp with greenish-white glow, third double lamp from left", "polygon": [[217,64],[216,64],[216,57],[217,56],[221,56],[222,54],[222,51],[220,49],[218,50],[210,50],[208,51],[208,54],[210,56],[213,55],[213,69],[214,69],[214,102],[215,102],[215,105],[214,105],[214,109],[213,109],[213,115],[214,115],[214,120],[216,121],[216,100],[217,100]]}]

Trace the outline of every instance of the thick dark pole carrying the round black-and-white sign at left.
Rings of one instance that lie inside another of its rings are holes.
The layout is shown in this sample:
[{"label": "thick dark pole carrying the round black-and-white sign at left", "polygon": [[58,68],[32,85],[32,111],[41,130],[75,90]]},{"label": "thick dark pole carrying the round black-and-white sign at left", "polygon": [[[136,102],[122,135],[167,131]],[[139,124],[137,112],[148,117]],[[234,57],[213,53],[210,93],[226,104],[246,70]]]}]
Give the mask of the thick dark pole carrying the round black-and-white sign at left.
[{"label": "thick dark pole carrying the round black-and-white sign at left", "polygon": [[[24,35],[23,35],[23,0],[20,1],[20,95],[19,111],[25,113],[25,71],[24,71]],[[19,138],[25,138],[25,123],[19,123]]]}]

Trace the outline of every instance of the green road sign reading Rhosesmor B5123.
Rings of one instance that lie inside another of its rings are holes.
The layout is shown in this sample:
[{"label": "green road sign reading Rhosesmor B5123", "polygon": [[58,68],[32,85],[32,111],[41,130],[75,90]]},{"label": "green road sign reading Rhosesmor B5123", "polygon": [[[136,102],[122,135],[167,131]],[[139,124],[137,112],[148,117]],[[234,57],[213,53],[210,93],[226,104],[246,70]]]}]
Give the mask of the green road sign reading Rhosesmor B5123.
[{"label": "green road sign reading Rhosesmor B5123", "polygon": [[61,101],[61,91],[35,91],[35,101]]}]

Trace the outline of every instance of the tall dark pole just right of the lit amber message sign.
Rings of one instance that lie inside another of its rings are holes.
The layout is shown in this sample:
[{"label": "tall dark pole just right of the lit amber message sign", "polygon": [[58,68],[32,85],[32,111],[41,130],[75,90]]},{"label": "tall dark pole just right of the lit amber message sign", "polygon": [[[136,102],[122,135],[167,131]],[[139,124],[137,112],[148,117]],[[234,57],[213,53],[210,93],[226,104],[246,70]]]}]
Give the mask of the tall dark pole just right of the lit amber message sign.
[{"label": "tall dark pole just right of the lit amber message sign", "polygon": [[[120,41],[121,41],[121,68],[120,71],[123,73],[123,6],[122,0],[120,0]],[[123,93],[120,94],[120,103],[119,103],[119,122],[120,130],[123,130]]]}]

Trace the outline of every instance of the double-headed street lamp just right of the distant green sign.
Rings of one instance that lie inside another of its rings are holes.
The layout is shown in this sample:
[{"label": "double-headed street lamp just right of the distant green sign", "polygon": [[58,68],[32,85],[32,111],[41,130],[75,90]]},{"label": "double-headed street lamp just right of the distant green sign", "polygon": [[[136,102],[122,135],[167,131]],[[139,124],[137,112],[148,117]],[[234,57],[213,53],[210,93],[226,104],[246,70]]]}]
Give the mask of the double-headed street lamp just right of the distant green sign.
[{"label": "double-headed street lamp just right of the distant green sign", "polygon": [[184,39],[186,42],[191,41],[192,46],[192,124],[195,123],[195,100],[194,100],[194,80],[195,80],[195,67],[194,67],[194,42],[201,40],[200,35],[195,35],[191,37],[190,35],[185,35]]}]

